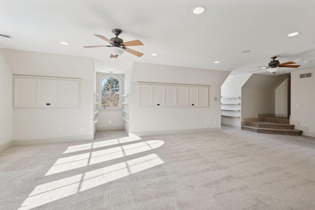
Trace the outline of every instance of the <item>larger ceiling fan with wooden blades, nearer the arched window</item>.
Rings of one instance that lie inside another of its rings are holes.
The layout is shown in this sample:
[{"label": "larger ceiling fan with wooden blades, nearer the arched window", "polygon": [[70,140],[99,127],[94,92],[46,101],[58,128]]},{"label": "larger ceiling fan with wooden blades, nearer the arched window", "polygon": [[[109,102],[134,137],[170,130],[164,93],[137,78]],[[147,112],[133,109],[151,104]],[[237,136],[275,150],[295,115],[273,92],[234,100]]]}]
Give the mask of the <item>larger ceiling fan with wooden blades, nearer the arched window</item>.
[{"label": "larger ceiling fan with wooden blades, nearer the arched window", "polygon": [[111,39],[108,39],[102,35],[97,35],[98,38],[101,38],[107,42],[109,42],[111,45],[99,45],[99,46],[84,46],[85,48],[93,48],[93,47],[110,47],[111,49],[111,55],[110,58],[117,58],[118,56],[121,56],[125,51],[128,53],[131,53],[132,55],[141,57],[143,56],[143,53],[137,52],[135,50],[131,50],[129,46],[139,46],[143,45],[143,43],[140,40],[133,40],[133,41],[128,41],[124,42],[123,39],[119,38],[118,35],[121,34],[123,31],[120,29],[112,29],[112,32],[116,35],[116,37],[113,37]]}]

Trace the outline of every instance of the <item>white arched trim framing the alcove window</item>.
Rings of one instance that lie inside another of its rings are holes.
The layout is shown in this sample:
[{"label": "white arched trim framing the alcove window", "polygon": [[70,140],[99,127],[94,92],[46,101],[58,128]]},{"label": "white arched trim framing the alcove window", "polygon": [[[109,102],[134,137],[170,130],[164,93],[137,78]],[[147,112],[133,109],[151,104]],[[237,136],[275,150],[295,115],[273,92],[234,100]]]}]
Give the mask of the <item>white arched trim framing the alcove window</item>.
[{"label": "white arched trim framing the alcove window", "polygon": [[[118,80],[119,82],[119,106],[118,107],[102,107],[102,81],[108,77],[113,77],[116,80]],[[98,97],[98,110],[122,110],[122,95],[124,94],[124,83],[121,77],[119,77],[118,75],[115,74],[103,74],[102,76],[99,77],[99,79],[97,80],[97,93],[99,94]]]}]

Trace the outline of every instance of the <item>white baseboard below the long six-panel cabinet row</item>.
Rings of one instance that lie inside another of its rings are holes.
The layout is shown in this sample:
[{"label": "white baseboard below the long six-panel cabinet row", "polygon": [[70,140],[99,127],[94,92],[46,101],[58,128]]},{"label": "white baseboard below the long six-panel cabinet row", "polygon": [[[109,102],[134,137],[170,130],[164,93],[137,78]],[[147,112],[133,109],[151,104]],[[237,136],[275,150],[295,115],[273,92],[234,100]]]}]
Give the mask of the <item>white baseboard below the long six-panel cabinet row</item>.
[{"label": "white baseboard below the long six-panel cabinet row", "polygon": [[212,132],[221,131],[221,127],[212,128],[196,128],[196,129],[183,129],[183,130],[158,130],[158,131],[139,131],[139,132],[129,132],[129,135],[136,136],[155,136],[155,135],[172,135],[172,134],[184,134],[184,133],[202,133],[202,132]]}]

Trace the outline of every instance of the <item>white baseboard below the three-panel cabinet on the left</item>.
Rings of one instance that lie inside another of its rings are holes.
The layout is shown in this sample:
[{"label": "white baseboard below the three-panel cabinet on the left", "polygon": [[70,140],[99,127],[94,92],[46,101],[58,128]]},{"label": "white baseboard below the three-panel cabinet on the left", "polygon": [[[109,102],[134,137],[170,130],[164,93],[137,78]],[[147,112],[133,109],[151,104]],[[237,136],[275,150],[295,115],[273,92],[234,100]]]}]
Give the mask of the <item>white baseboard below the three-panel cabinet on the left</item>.
[{"label": "white baseboard below the three-panel cabinet on the left", "polygon": [[12,146],[93,141],[93,139],[94,139],[93,135],[65,136],[65,137],[39,138],[39,139],[14,139],[12,141]]}]

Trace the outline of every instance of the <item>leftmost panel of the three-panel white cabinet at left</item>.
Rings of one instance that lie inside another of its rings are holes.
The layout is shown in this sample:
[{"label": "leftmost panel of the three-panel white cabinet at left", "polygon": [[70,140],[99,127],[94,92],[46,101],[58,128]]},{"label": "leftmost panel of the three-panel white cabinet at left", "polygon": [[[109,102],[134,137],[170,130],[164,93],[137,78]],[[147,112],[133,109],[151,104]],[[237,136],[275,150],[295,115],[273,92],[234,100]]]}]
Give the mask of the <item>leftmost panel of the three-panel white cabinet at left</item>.
[{"label": "leftmost panel of the three-panel white cabinet at left", "polygon": [[14,79],[14,106],[33,107],[37,100],[37,80]]}]

